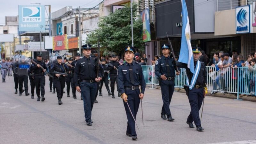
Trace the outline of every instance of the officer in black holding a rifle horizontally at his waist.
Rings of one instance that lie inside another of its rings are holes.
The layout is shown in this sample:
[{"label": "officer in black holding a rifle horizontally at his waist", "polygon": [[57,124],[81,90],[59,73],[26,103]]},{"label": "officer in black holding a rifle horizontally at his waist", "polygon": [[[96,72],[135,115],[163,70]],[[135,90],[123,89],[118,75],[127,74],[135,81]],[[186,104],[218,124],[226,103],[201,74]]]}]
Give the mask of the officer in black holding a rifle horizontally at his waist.
[{"label": "officer in black holding a rifle horizontally at his waist", "polygon": [[63,96],[63,89],[65,87],[66,76],[68,75],[68,67],[65,63],[62,62],[62,57],[60,55],[57,56],[57,61],[57,63],[52,65],[50,71],[52,74],[54,74],[53,83],[56,87],[58,103],[59,105],[61,105],[61,99]]}]

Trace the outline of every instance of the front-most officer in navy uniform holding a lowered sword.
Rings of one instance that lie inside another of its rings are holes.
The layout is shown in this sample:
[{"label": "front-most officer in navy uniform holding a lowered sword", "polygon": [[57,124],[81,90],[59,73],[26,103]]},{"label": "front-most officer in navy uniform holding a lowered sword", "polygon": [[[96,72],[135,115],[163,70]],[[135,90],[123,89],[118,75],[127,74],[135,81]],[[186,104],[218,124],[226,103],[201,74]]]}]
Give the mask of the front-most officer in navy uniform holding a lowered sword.
[{"label": "front-most officer in navy uniform holding a lowered sword", "polygon": [[[124,102],[124,108],[128,119],[126,135],[132,137],[132,140],[137,139],[135,131],[135,122],[132,118],[136,119],[136,115],[140,106],[140,99],[144,97],[146,83],[142,73],[142,68],[139,63],[133,61],[135,49],[132,46],[125,47],[125,59],[126,63],[118,67],[118,85],[119,92],[121,92],[121,98]],[[141,91],[140,91],[140,88]],[[131,108],[131,112],[129,107]]]}]

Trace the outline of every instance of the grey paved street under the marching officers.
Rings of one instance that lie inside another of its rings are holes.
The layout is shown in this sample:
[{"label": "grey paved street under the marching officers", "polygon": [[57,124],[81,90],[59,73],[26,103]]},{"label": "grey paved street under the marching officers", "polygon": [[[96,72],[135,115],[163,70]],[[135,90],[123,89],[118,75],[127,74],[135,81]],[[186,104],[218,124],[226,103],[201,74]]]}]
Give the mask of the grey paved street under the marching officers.
[{"label": "grey paved street under the marching officers", "polygon": [[44,102],[37,102],[25,93],[14,94],[13,77],[0,83],[1,144],[256,143],[255,102],[206,97],[202,118],[204,132],[197,132],[186,124],[190,107],[185,93],[174,92],[171,112],[175,121],[168,122],[160,118],[161,91],[147,88],[143,99],[144,125],[140,107],[138,140],[132,141],[125,135],[127,119],[122,100],[107,96],[105,86],[103,97],[98,96],[99,103],[94,104],[92,110],[93,125],[86,126],[83,101],[68,98],[65,93],[63,104],[58,105],[57,94],[49,92],[48,79],[47,76]]}]

